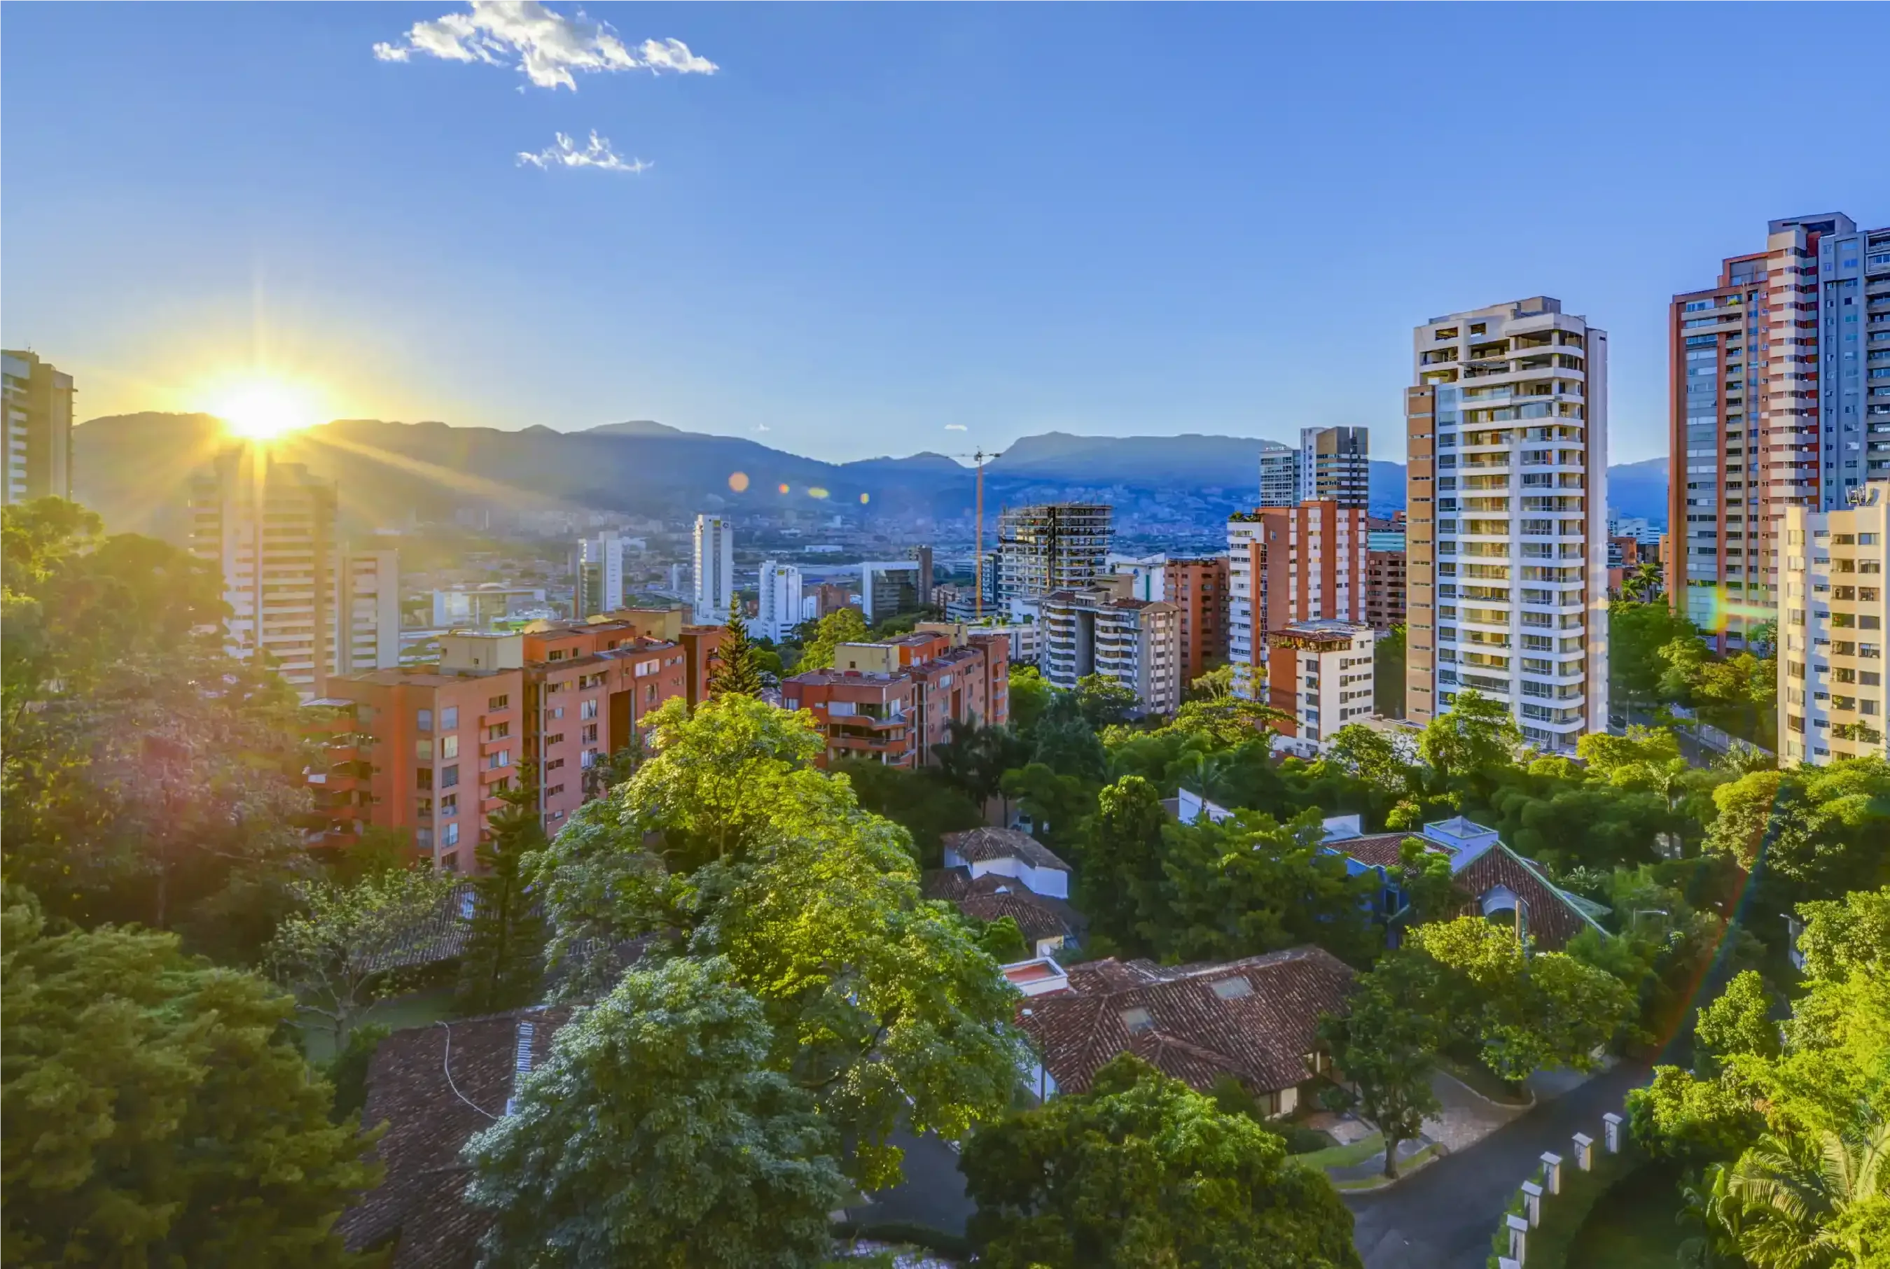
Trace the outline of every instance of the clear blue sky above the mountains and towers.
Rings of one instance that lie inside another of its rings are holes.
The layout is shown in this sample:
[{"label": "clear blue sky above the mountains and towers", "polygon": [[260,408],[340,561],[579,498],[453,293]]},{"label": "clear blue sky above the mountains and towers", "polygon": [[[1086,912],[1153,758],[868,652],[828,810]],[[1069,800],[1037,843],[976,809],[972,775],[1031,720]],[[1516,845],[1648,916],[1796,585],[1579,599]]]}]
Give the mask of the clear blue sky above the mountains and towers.
[{"label": "clear blue sky above the mountains and towers", "polygon": [[[1610,330],[1622,461],[1665,451],[1675,291],[1767,217],[1890,223],[1865,4],[1780,49],[1758,4],[592,0],[716,72],[376,59],[471,4],[9,6],[0,346],[83,417],[263,364],[338,415],[826,459],[1310,423],[1402,457],[1410,327],[1548,293]],[[518,161],[592,130],[654,166]]]}]

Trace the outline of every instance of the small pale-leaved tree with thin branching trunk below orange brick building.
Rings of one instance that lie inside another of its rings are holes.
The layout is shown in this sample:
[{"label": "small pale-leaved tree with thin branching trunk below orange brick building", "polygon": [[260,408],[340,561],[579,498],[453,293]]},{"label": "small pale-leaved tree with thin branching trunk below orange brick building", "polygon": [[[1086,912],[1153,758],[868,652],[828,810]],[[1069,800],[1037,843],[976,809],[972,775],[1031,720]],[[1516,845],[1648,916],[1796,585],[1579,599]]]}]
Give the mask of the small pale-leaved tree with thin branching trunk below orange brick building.
[{"label": "small pale-leaved tree with thin branching trunk below orange brick building", "polygon": [[395,869],[353,884],[302,882],[301,910],[276,927],[268,961],[299,1008],[329,1024],[335,1052],[374,1001],[399,988],[418,931],[448,903],[452,884],[429,869]]}]

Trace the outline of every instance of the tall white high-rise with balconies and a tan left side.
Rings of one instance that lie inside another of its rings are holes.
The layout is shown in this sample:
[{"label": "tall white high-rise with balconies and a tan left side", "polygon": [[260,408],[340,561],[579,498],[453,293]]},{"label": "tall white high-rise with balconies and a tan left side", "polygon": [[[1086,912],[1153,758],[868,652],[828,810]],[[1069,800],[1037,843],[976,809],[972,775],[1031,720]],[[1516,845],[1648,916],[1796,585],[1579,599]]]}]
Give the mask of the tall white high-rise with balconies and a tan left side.
[{"label": "tall white high-rise with balconies and a tan left side", "polygon": [[1412,338],[1404,714],[1474,687],[1572,750],[1608,725],[1608,336],[1533,296]]}]

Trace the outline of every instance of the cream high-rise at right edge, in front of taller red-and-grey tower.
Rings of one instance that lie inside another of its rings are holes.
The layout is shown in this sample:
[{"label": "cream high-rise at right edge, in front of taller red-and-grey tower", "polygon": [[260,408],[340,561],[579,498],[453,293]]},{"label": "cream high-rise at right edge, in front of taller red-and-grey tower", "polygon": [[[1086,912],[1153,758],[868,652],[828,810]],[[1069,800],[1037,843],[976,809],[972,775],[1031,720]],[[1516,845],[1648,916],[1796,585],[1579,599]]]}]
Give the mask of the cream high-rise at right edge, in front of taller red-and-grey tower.
[{"label": "cream high-rise at right edge, in front of taller red-and-grey tower", "polygon": [[1788,506],[1778,533],[1780,759],[1886,757],[1890,483],[1850,491],[1841,512]]}]

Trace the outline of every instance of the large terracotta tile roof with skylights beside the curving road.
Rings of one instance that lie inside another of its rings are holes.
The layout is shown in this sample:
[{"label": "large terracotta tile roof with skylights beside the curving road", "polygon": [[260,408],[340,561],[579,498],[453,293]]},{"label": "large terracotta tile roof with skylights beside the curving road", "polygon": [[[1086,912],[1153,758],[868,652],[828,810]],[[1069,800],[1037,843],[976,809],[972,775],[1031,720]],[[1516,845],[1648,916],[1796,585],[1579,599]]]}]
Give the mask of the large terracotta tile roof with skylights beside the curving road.
[{"label": "large terracotta tile roof with skylights beside the curving road", "polygon": [[1202,1091],[1219,1074],[1257,1093],[1276,1091],[1308,1078],[1319,1016],[1344,1012],[1351,980],[1351,969],[1323,948],[1221,965],[1111,957],[1072,965],[1072,990],[1032,999],[1019,1008],[1019,1024],[1064,1091],[1089,1088],[1123,1050]]}]

